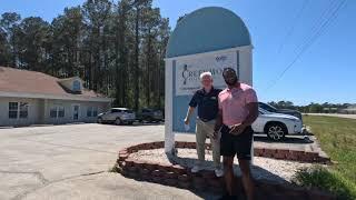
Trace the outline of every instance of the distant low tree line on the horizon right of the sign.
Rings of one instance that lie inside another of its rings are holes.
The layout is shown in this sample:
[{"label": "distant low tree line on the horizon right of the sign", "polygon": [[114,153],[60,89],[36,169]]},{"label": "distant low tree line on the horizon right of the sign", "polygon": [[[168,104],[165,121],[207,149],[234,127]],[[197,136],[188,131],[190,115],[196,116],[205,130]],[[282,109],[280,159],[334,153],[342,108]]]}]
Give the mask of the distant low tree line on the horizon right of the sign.
[{"label": "distant low tree line on the horizon right of the sign", "polygon": [[349,106],[350,103],[329,103],[329,102],[324,102],[324,103],[315,103],[312,102],[306,106],[295,106],[291,101],[270,101],[268,104],[277,108],[277,109],[293,109],[293,110],[298,110],[304,113],[335,113],[338,112],[340,109],[345,109]]}]

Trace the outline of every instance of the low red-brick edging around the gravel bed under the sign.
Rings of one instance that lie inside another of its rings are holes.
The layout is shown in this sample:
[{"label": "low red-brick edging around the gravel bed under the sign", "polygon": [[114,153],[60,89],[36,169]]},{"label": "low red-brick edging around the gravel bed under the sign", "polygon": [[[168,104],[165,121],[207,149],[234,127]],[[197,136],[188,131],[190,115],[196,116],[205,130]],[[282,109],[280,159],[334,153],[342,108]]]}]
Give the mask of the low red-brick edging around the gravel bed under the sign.
[{"label": "low red-brick edging around the gravel bed under the sign", "polygon": [[[122,176],[156,182],[160,184],[182,188],[208,190],[215,193],[225,191],[224,179],[217,178],[214,171],[202,170],[198,173],[191,173],[189,168],[184,168],[179,164],[160,164],[151,161],[141,161],[130,158],[130,153],[139,150],[160,149],[164,148],[164,141],[140,143],[121,149],[118,154],[117,164]],[[176,148],[195,149],[195,142],[176,141]],[[206,144],[210,149],[209,144]],[[327,162],[316,157],[315,153],[304,151],[275,150],[255,148],[255,156],[267,157],[275,159],[299,160],[306,162]],[[289,158],[289,159],[288,159]],[[241,180],[237,179],[238,190],[243,190]],[[256,191],[261,191],[266,194],[273,194],[270,198],[278,199],[283,197],[295,197],[300,199],[336,199],[329,193],[318,190],[309,190],[306,188],[294,187],[290,184],[278,184],[266,180],[256,180]]]}]

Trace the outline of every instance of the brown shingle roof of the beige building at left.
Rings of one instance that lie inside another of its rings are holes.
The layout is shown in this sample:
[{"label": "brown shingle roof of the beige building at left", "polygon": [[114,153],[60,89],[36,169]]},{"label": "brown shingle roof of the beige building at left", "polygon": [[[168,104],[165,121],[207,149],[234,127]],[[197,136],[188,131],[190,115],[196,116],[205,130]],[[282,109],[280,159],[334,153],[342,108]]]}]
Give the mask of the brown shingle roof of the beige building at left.
[{"label": "brown shingle roof of the beige building at left", "polygon": [[0,67],[0,91],[2,92],[26,92],[52,96],[80,96],[80,97],[103,97],[92,90],[83,89],[81,94],[67,92],[56,77],[29,70]]}]

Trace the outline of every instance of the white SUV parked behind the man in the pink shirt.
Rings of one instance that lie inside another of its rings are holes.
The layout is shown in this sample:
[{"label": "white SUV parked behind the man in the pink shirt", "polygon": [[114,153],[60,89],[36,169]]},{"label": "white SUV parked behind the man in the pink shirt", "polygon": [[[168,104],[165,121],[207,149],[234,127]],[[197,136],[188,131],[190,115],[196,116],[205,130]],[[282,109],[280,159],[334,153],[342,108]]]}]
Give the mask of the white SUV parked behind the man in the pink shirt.
[{"label": "white SUV parked behind the man in the pink shirt", "polygon": [[289,114],[275,113],[258,109],[259,116],[253,123],[253,129],[257,133],[266,133],[267,137],[275,141],[280,141],[286,134],[303,133],[303,122],[299,118]]}]

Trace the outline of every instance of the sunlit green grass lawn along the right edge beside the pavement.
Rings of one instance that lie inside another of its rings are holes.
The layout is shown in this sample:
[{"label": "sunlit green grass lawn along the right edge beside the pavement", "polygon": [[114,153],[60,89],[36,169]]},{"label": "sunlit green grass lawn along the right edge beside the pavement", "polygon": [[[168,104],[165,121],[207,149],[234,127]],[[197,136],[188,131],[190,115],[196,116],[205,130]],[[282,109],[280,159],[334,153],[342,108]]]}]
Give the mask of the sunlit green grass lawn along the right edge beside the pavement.
[{"label": "sunlit green grass lawn along the right edge beside the pavement", "polygon": [[[337,187],[348,193],[349,198],[356,199],[356,120],[304,116],[304,123],[310,127],[322,149],[336,161],[329,171]],[[332,189],[330,186],[326,188],[335,191],[333,186]]]}]

